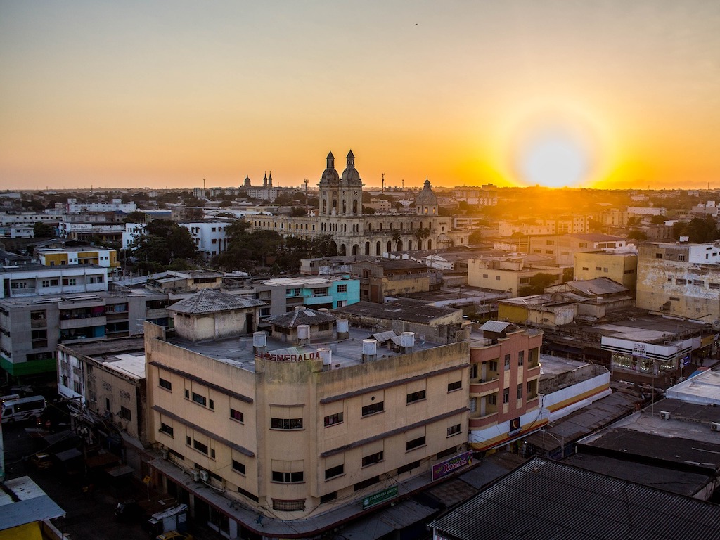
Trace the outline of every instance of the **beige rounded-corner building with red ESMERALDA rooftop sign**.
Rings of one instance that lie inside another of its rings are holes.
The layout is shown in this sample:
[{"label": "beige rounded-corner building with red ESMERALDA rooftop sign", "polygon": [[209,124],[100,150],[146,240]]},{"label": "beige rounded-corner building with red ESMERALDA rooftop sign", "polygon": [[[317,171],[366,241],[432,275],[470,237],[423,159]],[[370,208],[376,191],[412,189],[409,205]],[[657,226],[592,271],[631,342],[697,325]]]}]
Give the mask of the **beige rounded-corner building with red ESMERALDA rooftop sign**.
[{"label": "beige rounded-corner building with red ESMERALDA rooftop sign", "polygon": [[330,338],[310,324],[288,341],[233,335],[244,310],[222,297],[189,310],[189,300],[173,306],[184,318],[176,336],[145,326],[149,433],[166,457],[150,466],[158,487],[223,535],[318,537],[462,455],[467,342],[405,332],[380,348],[315,310],[304,320],[325,315],[318,330],[330,325]]}]

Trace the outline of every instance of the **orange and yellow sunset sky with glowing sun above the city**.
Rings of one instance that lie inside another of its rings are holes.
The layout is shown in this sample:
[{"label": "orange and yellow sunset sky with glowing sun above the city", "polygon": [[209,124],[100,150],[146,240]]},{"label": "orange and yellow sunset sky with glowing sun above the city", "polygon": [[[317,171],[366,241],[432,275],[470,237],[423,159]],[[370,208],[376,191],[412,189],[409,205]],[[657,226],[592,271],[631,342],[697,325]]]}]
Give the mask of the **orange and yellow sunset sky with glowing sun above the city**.
[{"label": "orange and yellow sunset sky with glowing sun above the city", "polygon": [[0,189],[720,188],[720,1],[0,0]]}]

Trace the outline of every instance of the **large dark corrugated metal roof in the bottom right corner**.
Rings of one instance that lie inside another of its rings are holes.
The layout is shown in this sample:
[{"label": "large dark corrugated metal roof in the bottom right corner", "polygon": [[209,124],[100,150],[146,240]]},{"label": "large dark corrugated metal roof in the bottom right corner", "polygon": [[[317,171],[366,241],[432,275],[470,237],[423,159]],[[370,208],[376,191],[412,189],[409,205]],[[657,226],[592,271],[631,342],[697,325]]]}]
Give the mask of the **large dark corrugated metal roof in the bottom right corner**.
[{"label": "large dark corrugated metal roof in the bottom right corner", "polygon": [[534,458],[430,526],[455,539],[707,540],[720,506]]}]

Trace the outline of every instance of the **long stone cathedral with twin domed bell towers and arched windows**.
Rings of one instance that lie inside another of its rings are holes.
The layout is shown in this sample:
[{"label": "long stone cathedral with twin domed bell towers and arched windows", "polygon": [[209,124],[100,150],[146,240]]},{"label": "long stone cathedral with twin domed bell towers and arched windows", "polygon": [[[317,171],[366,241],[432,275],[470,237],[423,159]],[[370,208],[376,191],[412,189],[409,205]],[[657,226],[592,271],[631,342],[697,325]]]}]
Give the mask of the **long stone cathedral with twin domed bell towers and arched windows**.
[{"label": "long stone cathedral with twin domed bell towers and arched windows", "polygon": [[333,153],[328,154],[318,186],[317,216],[253,216],[250,218],[253,229],[307,239],[330,235],[338,255],[382,256],[389,251],[439,249],[467,243],[469,232],[453,230],[452,217],[439,215],[438,199],[428,179],[415,197],[414,213],[364,215],[363,183],[351,150],[343,174],[338,174],[335,168]]}]

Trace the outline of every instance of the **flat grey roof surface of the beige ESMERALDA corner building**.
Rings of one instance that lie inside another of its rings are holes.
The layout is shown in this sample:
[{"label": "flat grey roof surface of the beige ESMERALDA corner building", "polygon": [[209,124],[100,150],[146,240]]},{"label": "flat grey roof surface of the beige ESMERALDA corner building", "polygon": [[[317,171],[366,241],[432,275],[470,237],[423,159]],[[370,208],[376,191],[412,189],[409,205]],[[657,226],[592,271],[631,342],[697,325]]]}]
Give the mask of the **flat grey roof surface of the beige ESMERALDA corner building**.
[{"label": "flat grey roof surface of the beige ESMERALDA corner building", "polygon": [[[349,338],[336,341],[312,341],[306,345],[293,345],[285,341],[280,341],[268,335],[266,352],[271,355],[307,355],[318,353],[318,348],[330,348],[333,352],[333,368],[356,366],[362,364],[362,345],[363,340],[372,337],[372,330],[362,330],[360,328],[349,328]],[[215,341],[202,341],[194,343],[177,337],[168,337],[168,343],[186,348],[189,351],[209,356],[212,359],[226,362],[240,369],[247,369],[250,372],[255,371],[255,354],[253,353],[253,336],[239,336]],[[388,344],[390,341],[387,342]],[[423,351],[441,346],[439,343],[432,343],[421,339],[415,335],[414,351]],[[383,359],[391,356],[402,356],[401,353],[392,351],[388,345],[377,345],[377,359]],[[307,356],[306,356],[307,357]]]}]

